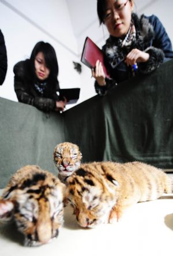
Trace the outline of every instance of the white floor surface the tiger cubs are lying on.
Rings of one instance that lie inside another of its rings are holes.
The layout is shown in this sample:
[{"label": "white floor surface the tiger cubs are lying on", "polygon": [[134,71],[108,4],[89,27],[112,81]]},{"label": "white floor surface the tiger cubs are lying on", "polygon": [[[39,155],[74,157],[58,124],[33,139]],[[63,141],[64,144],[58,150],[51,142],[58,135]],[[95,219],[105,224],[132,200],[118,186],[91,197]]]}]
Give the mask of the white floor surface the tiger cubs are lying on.
[{"label": "white floor surface the tiger cubs are lying on", "polygon": [[1,256],[166,256],[173,255],[173,198],[138,203],[130,207],[121,221],[81,228],[65,209],[65,224],[50,244],[23,247],[22,235],[14,225],[0,226]]}]

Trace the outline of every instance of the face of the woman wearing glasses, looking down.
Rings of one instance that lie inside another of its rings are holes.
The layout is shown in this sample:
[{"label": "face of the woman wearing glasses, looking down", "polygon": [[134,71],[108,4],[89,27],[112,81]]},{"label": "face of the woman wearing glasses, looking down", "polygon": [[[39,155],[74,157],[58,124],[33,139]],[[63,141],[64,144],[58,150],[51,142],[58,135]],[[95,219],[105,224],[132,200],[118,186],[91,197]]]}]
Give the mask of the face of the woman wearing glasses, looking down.
[{"label": "face of the woman wearing glasses, looking down", "polygon": [[123,38],[127,34],[130,22],[133,1],[129,0],[107,0],[104,24],[110,35]]}]

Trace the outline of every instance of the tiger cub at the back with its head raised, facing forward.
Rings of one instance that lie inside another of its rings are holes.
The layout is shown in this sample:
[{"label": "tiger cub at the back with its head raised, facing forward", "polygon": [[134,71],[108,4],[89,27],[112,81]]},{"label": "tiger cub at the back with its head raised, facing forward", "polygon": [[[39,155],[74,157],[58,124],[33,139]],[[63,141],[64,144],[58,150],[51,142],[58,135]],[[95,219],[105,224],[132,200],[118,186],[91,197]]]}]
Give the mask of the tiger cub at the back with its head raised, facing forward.
[{"label": "tiger cub at the back with its head raised, facing forward", "polygon": [[82,154],[76,144],[63,142],[54,149],[54,162],[58,169],[58,178],[65,183],[67,177],[81,164]]}]

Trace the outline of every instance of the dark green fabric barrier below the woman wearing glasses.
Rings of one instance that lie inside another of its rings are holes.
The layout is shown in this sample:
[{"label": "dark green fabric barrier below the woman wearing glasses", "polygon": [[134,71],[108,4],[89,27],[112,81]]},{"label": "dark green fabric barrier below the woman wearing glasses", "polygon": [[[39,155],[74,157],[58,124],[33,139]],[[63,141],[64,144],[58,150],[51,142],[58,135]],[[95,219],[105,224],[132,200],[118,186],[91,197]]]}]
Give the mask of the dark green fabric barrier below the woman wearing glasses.
[{"label": "dark green fabric barrier below the woman wearing glasses", "polygon": [[172,168],[172,98],[171,60],[69,109],[65,138],[80,146],[83,161],[137,160]]}]

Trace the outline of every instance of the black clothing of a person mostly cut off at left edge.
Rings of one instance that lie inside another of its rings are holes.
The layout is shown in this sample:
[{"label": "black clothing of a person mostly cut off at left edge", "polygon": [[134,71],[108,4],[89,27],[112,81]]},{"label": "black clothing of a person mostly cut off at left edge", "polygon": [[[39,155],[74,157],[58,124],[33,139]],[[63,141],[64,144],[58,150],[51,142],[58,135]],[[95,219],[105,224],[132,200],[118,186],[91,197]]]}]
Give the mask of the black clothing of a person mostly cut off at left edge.
[{"label": "black clothing of a person mostly cut off at left edge", "polygon": [[3,34],[0,30],[0,85],[1,86],[3,84],[3,81],[5,80],[6,71],[7,71],[6,47],[5,47]]}]

